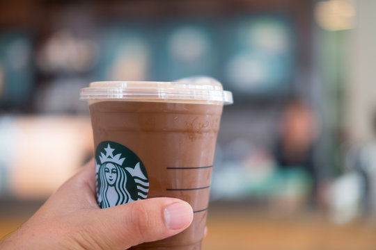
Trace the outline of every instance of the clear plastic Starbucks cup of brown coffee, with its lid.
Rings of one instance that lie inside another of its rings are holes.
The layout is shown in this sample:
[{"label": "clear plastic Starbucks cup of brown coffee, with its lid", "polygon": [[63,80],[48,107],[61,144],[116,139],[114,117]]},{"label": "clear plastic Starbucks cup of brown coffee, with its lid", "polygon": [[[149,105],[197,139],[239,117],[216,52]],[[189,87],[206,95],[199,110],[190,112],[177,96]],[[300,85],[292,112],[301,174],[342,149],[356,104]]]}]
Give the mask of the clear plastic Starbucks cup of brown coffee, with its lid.
[{"label": "clear plastic Starbucks cup of brown coffee, with its lid", "polygon": [[132,249],[201,249],[222,108],[233,103],[213,78],[94,82],[88,99],[101,208],[153,197],[191,204],[185,231]]}]

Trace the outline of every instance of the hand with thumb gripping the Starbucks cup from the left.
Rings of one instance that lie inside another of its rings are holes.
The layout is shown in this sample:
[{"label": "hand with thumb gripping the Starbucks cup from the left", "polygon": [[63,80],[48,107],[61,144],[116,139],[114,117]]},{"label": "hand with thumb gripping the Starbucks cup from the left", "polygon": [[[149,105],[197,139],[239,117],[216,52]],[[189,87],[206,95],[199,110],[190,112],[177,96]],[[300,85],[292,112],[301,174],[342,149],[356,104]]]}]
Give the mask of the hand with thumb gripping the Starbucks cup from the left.
[{"label": "hand with thumb gripping the Starbucks cup from the left", "polygon": [[1,242],[0,249],[128,249],[180,233],[192,219],[189,203],[173,198],[100,209],[92,160]]}]

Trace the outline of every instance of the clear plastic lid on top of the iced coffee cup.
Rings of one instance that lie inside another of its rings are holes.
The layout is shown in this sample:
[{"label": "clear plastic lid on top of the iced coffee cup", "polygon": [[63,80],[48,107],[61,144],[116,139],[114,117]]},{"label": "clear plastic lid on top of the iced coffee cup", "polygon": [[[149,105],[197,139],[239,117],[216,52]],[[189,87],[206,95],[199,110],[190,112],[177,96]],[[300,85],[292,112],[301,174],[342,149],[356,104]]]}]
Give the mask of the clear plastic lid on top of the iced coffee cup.
[{"label": "clear plastic lid on top of the iced coffee cup", "polygon": [[233,103],[233,94],[207,76],[193,76],[172,82],[101,81],[82,88],[80,99],[132,99],[146,101]]}]

